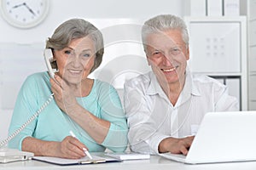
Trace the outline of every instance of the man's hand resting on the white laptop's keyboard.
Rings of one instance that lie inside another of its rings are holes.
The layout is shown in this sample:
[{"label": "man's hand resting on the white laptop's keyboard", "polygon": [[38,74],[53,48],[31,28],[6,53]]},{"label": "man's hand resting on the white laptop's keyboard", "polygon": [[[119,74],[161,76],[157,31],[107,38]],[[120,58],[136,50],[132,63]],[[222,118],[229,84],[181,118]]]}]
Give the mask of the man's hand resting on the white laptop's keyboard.
[{"label": "man's hand resting on the white laptop's keyboard", "polygon": [[171,152],[172,154],[183,154],[186,156],[194,138],[195,136],[183,139],[166,138],[160,142],[158,150],[160,153]]}]

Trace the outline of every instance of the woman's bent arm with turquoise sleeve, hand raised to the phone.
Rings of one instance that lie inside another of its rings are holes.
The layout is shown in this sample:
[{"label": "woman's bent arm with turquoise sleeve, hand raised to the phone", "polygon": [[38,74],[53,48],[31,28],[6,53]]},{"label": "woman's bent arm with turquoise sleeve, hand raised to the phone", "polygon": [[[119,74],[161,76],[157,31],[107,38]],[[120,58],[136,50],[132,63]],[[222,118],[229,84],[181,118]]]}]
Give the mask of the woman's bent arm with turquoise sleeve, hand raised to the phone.
[{"label": "woman's bent arm with turquoise sleeve, hand raised to the phone", "polygon": [[53,79],[50,82],[55,94],[55,101],[61,110],[65,111],[74,122],[77,122],[96,143],[108,148],[113,147],[113,150],[116,151],[125,150],[128,143],[128,127],[119,95],[115,89],[107,83],[102,83],[97,88],[98,99],[96,102],[101,111],[99,116],[95,116],[79,105],[73,92],[68,92],[68,89],[66,91],[65,82],[62,82],[61,77],[56,76],[55,79],[61,84],[61,87]]}]

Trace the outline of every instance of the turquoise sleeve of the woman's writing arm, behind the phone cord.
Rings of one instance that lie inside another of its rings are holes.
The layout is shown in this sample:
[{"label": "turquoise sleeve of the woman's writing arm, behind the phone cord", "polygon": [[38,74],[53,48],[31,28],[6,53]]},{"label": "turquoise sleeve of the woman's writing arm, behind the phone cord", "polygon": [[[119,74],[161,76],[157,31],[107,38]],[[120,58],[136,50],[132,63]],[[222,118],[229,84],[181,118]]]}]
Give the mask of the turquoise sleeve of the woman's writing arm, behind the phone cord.
[{"label": "turquoise sleeve of the woman's writing arm, behind the phone cord", "polygon": [[[21,144],[23,139],[28,136],[32,136],[35,128],[37,127],[38,116],[28,123],[28,120],[32,119],[32,116],[38,111],[39,107],[43,104],[39,100],[46,101],[50,96],[50,90],[48,85],[44,82],[42,75],[32,75],[26,78],[26,81],[22,84],[20,92],[15,102],[15,108],[13,111],[12,119],[9,125],[9,135],[15,134],[15,138],[9,141],[9,148],[15,148],[21,150]],[[41,84],[41,85],[40,85]],[[40,85],[40,86],[39,86]],[[38,88],[44,90],[45,96],[38,95]],[[25,123],[24,127],[19,133],[17,129],[20,129]],[[15,133],[17,132],[17,133]]]}]

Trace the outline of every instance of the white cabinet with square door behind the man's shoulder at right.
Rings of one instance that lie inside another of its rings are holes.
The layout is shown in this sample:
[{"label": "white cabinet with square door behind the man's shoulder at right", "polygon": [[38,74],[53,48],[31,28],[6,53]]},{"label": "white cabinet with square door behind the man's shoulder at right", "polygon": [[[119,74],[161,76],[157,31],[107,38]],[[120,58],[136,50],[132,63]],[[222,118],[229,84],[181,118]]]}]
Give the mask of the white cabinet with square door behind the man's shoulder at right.
[{"label": "white cabinet with square door behind the man's shoulder at right", "polygon": [[247,110],[247,20],[244,16],[185,17],[189,69],[222,80]]}]

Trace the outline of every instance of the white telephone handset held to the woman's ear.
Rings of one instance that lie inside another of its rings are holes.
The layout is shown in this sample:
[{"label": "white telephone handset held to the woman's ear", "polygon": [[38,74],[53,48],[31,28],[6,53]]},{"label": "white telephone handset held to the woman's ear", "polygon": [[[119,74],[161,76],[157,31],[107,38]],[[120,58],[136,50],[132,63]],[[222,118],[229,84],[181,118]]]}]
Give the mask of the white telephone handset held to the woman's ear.
[{"label": "white telephone handset held to the woman's ear", "polygon": [[49,72],[49,76],[54,79],[55,72],[58,72],[58,66],[56,60],[53,57],[51,48],[44,49],[44,60]]}]

